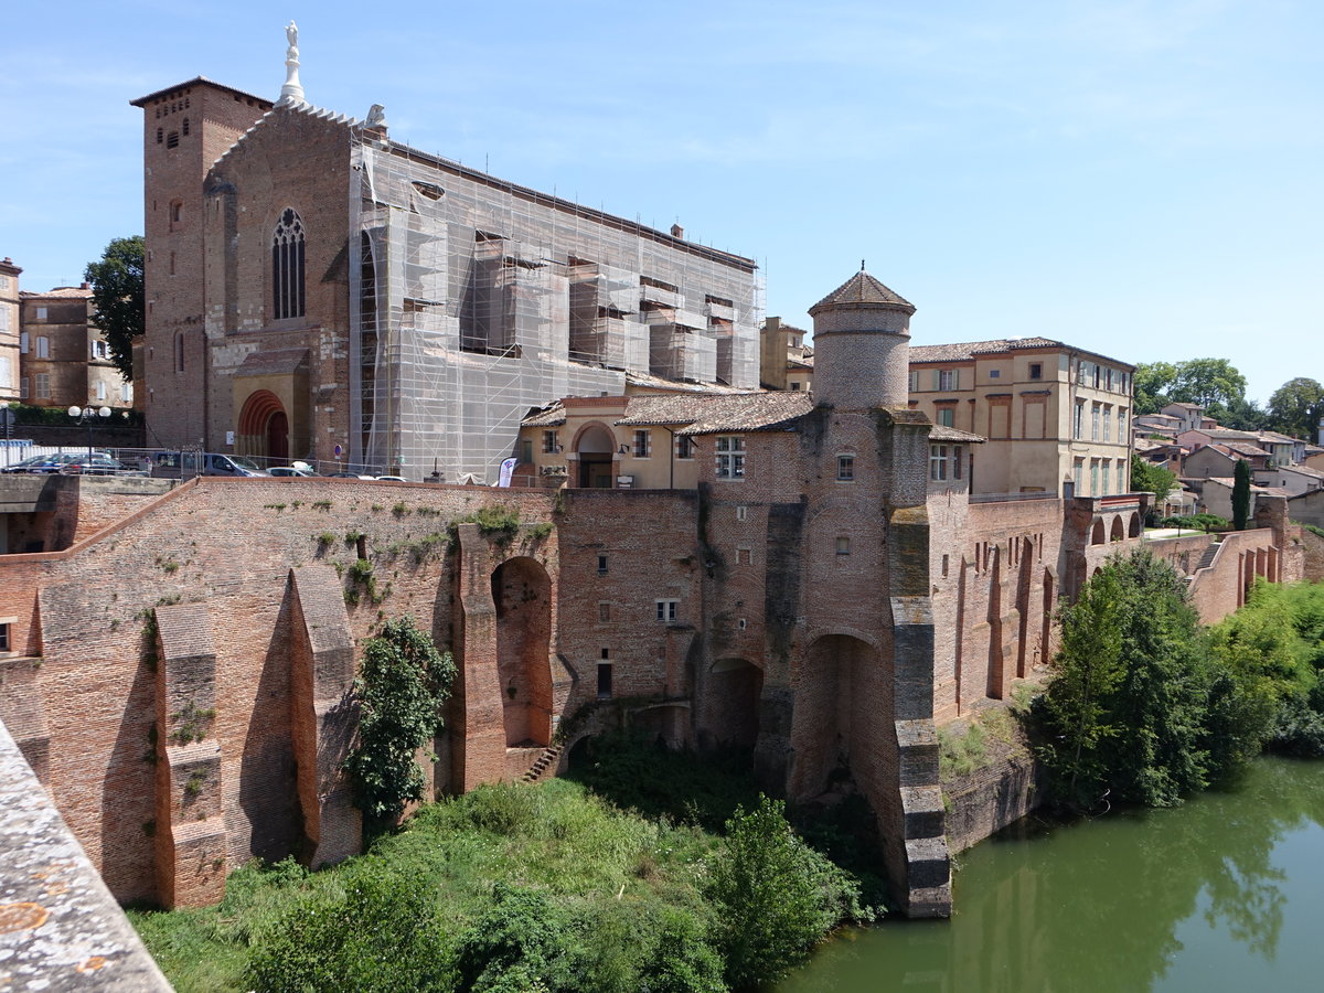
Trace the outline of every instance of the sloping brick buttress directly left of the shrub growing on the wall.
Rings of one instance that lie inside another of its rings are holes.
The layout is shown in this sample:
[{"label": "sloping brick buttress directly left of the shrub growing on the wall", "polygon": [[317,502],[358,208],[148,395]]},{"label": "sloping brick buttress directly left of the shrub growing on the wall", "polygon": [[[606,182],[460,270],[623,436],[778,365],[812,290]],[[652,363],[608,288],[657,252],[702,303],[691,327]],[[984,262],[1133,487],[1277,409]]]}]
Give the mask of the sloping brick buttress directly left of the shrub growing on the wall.
[{"label": "sloping brick buttress directly left of the shrub growing on the wall", "polygon": [[290,728],[303,837],[312,869],[363,847],[363,821],[340,765],[357,715],[348,707],[354,634],[330,565],[290,569]]}]

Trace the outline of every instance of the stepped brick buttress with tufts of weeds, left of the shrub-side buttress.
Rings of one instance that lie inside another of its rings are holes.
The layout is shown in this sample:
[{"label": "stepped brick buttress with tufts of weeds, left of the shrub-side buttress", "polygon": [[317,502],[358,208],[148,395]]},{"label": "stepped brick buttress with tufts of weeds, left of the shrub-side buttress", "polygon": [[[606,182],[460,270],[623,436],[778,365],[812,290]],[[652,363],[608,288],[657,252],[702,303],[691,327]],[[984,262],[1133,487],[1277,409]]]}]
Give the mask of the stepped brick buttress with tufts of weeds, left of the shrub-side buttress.
[{"label": "stepped brick buttress with tufts of weeds, left of the shrub-side buttress", "polygon": [[156,608],[156,888],[166,907],[225,895],[216,645],[205,604]]}]

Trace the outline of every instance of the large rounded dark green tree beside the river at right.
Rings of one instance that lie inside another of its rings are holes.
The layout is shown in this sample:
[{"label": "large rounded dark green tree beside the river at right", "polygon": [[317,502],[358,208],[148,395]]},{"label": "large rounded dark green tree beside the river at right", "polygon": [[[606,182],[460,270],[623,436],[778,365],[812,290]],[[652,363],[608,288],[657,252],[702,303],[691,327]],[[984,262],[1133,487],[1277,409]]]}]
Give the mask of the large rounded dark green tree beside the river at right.
[{"label": "large rounded dark green tree beside the river at right", "polygon": [[1062,612],[1034,708],[1057,798],[1170,806],[1207,785],[1210,667],[1186,583],[1145,551],[1110,560]]}]

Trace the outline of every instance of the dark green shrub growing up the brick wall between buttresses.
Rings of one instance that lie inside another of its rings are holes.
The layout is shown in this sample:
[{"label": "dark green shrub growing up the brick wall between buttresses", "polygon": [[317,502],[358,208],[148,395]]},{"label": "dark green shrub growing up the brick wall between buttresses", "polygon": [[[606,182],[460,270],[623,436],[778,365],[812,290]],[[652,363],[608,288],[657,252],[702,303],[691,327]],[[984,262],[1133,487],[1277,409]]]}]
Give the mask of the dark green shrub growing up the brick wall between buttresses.
[{"label": "dark green shrub growing up the brick wall between buttresses", "polygon": [[424,775],[414,753],[441,731],[455,663],[412,617],[388,621],[369,638],[354,681],[359,737],[346,759],[359,809],[389,824],[405,804],[422,800]]}]

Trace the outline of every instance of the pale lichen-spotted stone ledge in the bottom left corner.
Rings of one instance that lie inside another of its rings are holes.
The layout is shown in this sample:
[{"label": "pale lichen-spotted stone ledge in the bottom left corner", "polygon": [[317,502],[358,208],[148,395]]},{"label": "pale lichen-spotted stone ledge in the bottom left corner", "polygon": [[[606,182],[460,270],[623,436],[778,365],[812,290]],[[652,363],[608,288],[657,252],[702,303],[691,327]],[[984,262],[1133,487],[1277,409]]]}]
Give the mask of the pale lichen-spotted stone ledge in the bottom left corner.
[{"label": "pale lichen-spotted stone ledge in the bottom left corner", "polygon": [[0,989],[169,988],[0,724]]}]

